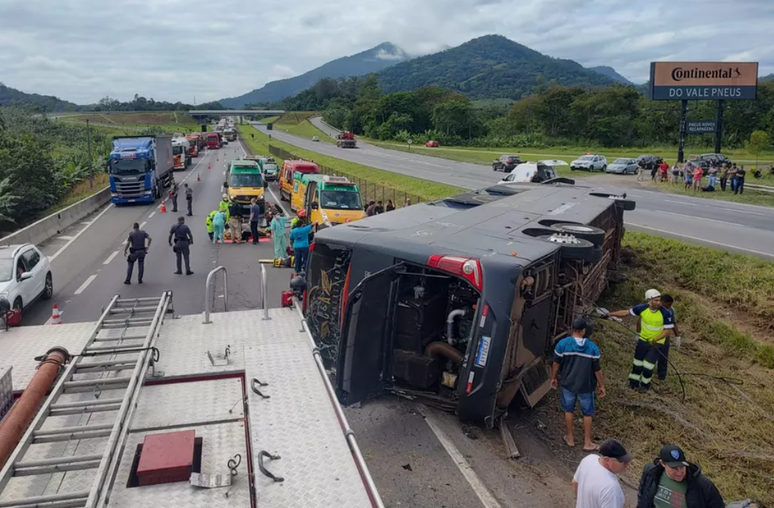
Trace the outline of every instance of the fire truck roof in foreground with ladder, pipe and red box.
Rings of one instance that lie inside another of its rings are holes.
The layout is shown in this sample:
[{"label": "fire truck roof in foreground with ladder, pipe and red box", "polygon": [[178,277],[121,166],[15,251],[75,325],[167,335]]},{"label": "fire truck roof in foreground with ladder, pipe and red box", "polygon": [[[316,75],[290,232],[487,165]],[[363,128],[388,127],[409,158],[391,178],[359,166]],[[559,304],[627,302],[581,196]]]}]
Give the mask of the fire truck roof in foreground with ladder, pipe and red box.
[{"label": "fire truck roof in foreground with ladder, pipe and red box", "polygon": [[384,506],[300,311],[210,313],[219,271],[0,332],[0,506]]}]

